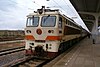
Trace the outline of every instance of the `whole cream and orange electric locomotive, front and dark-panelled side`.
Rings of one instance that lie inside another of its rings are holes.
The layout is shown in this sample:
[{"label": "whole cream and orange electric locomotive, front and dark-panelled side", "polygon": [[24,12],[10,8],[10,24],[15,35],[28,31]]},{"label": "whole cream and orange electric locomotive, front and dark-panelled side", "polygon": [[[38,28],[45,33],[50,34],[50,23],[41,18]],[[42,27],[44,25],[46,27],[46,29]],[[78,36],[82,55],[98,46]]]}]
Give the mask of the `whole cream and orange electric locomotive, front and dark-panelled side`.
[{"label": "whole cream and orange electric locomotive, front and dark-panelled side", "polygon": [[55,57],[81,37],[82,27],[59,10],[45,9],[43,6],[27,16],[26,54]]}]

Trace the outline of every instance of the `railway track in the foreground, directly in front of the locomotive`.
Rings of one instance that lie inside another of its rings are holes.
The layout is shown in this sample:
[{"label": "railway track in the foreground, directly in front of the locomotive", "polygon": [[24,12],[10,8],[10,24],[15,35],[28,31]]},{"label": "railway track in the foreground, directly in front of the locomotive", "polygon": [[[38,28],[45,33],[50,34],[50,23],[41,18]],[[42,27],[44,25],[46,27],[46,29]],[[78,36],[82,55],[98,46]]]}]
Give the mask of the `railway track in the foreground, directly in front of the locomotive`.
[{"label": "railway track in the foreground, directly in front of the locomotive", "polygon": [[33,56],[25,56],[21,59],[14,60],[10,63],[2,65],[2,67],[42,67],[49,62],[46,58],[37,58]]}]

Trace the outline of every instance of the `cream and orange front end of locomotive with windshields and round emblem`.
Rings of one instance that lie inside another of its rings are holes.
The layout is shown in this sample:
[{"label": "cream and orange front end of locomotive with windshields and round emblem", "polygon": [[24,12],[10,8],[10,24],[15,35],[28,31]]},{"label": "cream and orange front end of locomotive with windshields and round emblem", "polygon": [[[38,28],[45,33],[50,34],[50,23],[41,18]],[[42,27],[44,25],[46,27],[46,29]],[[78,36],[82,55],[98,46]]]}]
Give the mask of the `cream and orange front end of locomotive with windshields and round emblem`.
[{"label": "cream and orange front end of locomotive with windshields and round emblem", "polygon": [[27,55],[47,57],[57,55],[61,39],[57,22],[58,12],[46,11],[43,8],[27,16],[25,28]]}]

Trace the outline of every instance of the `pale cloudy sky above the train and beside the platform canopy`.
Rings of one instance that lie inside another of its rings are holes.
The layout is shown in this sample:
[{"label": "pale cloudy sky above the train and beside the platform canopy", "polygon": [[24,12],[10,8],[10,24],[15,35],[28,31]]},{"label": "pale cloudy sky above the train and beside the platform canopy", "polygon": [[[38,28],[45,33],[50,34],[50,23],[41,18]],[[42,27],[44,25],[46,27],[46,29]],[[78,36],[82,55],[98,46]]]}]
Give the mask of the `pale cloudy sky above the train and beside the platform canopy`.
[{"label": "pale cloudy sky above the train and beside the platform canopy", "polygon": [[24,30],[26,16],[41,6],[59,9],[87,29],[69,0],[0,0],[0,30]]}]

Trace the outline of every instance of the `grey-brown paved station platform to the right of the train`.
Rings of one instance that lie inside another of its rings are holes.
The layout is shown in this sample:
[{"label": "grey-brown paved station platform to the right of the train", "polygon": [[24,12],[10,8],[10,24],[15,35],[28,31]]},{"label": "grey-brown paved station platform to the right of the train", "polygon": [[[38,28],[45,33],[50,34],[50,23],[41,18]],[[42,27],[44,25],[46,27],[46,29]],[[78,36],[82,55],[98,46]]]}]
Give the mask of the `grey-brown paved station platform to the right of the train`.
[{"label": "grey-brown paved station platform to the right of the train", "polygon": [[93,44],[92,41],[92,38],[85,38],[44,67],[100,67],[100,42]]}]

